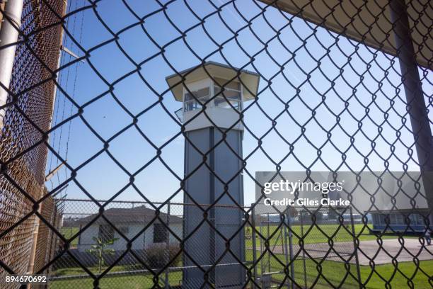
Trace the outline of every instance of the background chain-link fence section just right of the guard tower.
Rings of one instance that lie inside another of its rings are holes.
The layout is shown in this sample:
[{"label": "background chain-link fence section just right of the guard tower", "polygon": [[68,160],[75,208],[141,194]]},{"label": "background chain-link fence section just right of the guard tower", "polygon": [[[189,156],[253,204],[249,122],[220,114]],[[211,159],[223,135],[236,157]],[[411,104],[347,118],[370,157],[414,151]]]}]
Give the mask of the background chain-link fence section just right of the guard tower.
[{"label": "background chain-link fence section just right of the guard tower", "polygon": [[[308,210],[306,210],[308,209]],[[355,251],[355,224],[361,224],[350,208],[296,208],[289,215],[259,213],[253,217],[258,234],[253,231],[257,256],[263,256],[256,273],[262,287],[284,284],[291,287],[286,273],[301,288],[326,287],[329,282],[345,284],[345,288],[359,288],[359,262]],[[282,223],[286,226],[282,226]],[[249,235],[249,234],[248,234]],[[331,237],[332,236],[332,237]],[[248,239],[248,238],[247,238]],[[332,239],[332,243],[328,242]],[[268,240],[268,241],[267,241]],[[268,242],[266,244],[266,242]],[[252,249],[253,247],[251,247]],[[347,276],[333,276],[327,280],[318,276],[316,266],[323,260],[353,264]],[[289,264],[289,270],[286,268]],[[286,270],[286,271],[285,271]],[[317,271],[316,271],[317,272]]]}]

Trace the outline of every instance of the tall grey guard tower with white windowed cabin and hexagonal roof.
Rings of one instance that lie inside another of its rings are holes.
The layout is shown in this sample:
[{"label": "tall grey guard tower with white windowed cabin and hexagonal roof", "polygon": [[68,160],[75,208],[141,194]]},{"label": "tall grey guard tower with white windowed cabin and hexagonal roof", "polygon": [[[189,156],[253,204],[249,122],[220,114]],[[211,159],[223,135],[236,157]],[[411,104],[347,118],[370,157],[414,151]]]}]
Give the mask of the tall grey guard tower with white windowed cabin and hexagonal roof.
[{"label": "tall grey guard tower with white windowed cabin and hexagonal roof", "polygon": [[[176,115],[185,124],[187,138],[184,203],[192,205],[184,208],[183,236],[194,233],[185,241],[183,288],[202,288],[205,280],[216,288],[241,288],[246,272],[236,259],[245,261],[245,239],[243,229],[236,232],[245,215],[233,202],[243,206],[243,125],[239,113],[245,101],[255,98],[259,76],[216,62],[179,74],[166,81],[175,100],[182,102]],[[224,132],[226,140],[219,143]],[[207,166],[202,164],[204,160]],[[202,208],[192,199],[203,204]],[[216,200],[217,205],[207,206]],[[207,222],[202,223],[204,212]],[[219,260],[226,252],[226,239],[230,239],[230,251]]]}]

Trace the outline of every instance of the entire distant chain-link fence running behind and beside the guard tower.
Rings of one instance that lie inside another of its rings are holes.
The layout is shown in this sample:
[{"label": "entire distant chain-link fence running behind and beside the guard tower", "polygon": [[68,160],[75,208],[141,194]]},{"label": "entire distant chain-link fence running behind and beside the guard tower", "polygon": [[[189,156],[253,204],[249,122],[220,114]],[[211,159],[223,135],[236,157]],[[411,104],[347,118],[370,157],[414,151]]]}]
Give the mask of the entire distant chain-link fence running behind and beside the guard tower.
[{"label": "entire distant chain-link fence running behind and beside the guard tower", "polygon": [[[136,285],[141,282],[144,288],[151,288],[154,274],[165,268],[158,276],[158,284],[162,288],[171,288],[182,284],[185,272],[197,269],[195,265],[186,265],[188,262],[183,259],[185,256],[182,257],[180,244],[197,241],[187,241],[189,237],[183,229],[183,217],[186,207],[198,210],[198,205],[120,200],[98,200],[98,203],[107,204],[103,212],[93,200],[62,199],[59,232],[69,240],[69,251],[65,252],[62,249],[64,242],[54,237],[57,240],[58,258],[49,271],[52,286],[57,288],[62,284],[65,289],[86,287],[91,283],[86,268],[96,277],[103,276],[105,288],[115,287],[122,280],[136,284],[135,278],[139,278]],[[206,208],[208,205],[200,206]],[[328,260],[357,263],[352,210],[308,209],[293,208],[290,219],[289,215],[283,217],[284,225],[279,212],[255,214],[252,211],[248,223],[239,233],[242,234],[243,256],[238,257],[243,260],[243,266],[254,268],[252,278],[257,283],[262,283],[267,276],[274,279],[271,283],[286,282],[281,276],[287,263],[292,264],[289,269],[292,278],[300,283],[305,282],[305,285],[312,283],[306,278],[306,269],[311,266],[309,262],[312,259],[321,260],[326,256]],[[231,215],[231,211],[237,212],[239,208],[217,205],[216,210],[224,210]],[[245,207],[243,213],[249,210],[251,207]],[[312,224],[325,232],[316,227],[311,229]],[[212,232],[212,227],[200,227],[202,234]],[[333,234],[333,241],[338,243],[335,246],[327,243],[327,236]],[[214,236],[204,241],[216,246],[221,242],[219,239]],[[307,244],[300,246],[300,239]],[[99,246],[98,242],[103,246]],[[197,242],[190,244],[190,247],[196,248],[200,254],[206,254],[200,249],[201,244]],[[239,266],[239,263],[219,261],[217,264],[217,268],[230,266]],[[110,267],[110,271],[105,273]],[[201,263],[200,267],[212,268],[213,264]],[[319,283],[325,285],[323,280]]]}]

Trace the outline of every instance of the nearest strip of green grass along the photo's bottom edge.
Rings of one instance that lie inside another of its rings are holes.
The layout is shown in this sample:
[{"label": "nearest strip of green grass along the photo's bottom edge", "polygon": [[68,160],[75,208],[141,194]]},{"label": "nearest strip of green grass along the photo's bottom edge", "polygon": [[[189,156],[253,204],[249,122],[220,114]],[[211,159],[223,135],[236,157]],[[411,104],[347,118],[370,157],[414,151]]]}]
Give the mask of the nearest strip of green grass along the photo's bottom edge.
[{"label": "nearest strip of green grass along the photo's bottom edge", "polygon": [[[295,267],[295,279],[299,285],[305,285],[304,280],[304,263],[302,261],[296,261],[294,264]],[[272,270],[277,271],[281,268],[278,266],[272,266]],[[398,270],[396,271],[392,264],[379,265],[376,266],[375,271],[372,271],[369,266],[360,266],[360,273],[362,282],[366,283],[366,288],[369,289],[382,289],[386,288],[386,282],[389,282],[391,288],[407,288],[408,287],[408,279],[405,278],[407,276],[413,276],[415,271],[417,270],[417,266],[415,266],[412,262],[402,262],[398,263]],[[417,271],[415,278],[412,279],[415,288],[431,288],[428,281],[428,276],[433,276],[433,261],[420,261],[420,269],[421,271]],[[120,268],[115,269],[114,271],[120,270]],[[347,269],[345,268],[344,263],[335,262],[335,261],[323,261],[321,263],[321,270],[323,275],[328,279],[326,281],[324,278],[318,278],[318,268],[314,261],[306,261],[306,280],[307,286],[311,287],[313,283],[316,281],[316,285],[314,288],[332,288],[329,284],[333,284],[333,286],[340,288],[359,288],[354,278],[351,276],[347,276]],[[356,276],[356,268],[355,266],[350,266],[349,271]],[[396,272],[395,272],[396,271]],[[394,274],[395,273],[395,274]],[[404,275],[403,275],[404,274]],[[100,280],[100,288],[101,289],[125,289],[125,288],[135,288],[135,289],[144,289],[144,288],[152,288],[154,285],[153,276],[150,274],[142,274],[142,275],[133,275],[133,276],[117,276],[117,277],[104,277]],[[161,275],[163,278],[163,274]],[[272,276],[275,280],[283,280],[284,274],[274,274]],[[169,283],[171,285],[178,285],[182,280],[182,272],[172,272],[169,274]],[[328,283],[329,282],[329,283]],[[78,289],[78,288],[93,288],[93,279],[91,278],[80,278],[75,280],[62,280],[55,281],[50,283],[51,289]]]}]

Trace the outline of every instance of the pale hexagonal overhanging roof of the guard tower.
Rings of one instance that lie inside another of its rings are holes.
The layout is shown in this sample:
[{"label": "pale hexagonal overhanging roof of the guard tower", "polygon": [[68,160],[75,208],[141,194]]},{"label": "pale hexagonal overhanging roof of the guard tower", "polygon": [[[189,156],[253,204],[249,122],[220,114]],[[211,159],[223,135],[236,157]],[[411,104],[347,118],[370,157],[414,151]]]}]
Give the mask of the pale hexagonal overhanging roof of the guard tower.
[{"label": "pale hexagonal overhanging roof of the guard tower", "polygon": [[[204,68],[206,69],[206,71],[204,70]],[[238,69],[236,67],[230,67],[229,65],[213,61],[208,61],[204,64],[185,69],[179,73],[171,74],[170,76],[166,77],[166,81],[168,86],[170,86],[171,92],[173,93],[175,100],[182,101],[183,85],[182,83],[180,83],[180,81],[182,81],[182,77],[180,76],[185,77],[185,84],[192,81],[199,81],[201,79],[208,78],[208,73],[212,77],[219,77],[222,79],[234,79],[238,81],[240,79],[243,84],[244,101],[249,101],[257,96],[258,83],[260,79],[259,74],[255,72],[250,72],[246,69]]]}]

